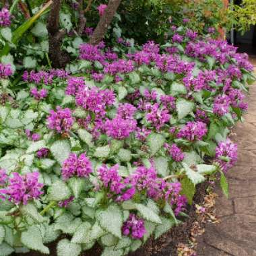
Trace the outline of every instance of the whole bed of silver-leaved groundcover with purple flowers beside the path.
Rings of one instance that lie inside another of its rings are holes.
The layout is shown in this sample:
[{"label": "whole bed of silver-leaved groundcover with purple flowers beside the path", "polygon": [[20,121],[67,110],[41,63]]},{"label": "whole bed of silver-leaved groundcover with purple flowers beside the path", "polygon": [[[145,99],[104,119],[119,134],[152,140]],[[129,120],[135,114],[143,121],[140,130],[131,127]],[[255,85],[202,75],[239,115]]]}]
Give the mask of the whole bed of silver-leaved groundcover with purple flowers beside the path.
[{"label": "whole bed of silver-leaved groundcover with purple flowers beside the path", "polygon": [[162,46],[120,38],[115,51],[100,42],[72,53],[66,70],[24,71],[15,92],[0,64],[1,255],[51,255],[55,240],[59,256],[96,243],[127,255],[179,225],[195,185],[219,173],[228,194],[247,55],[183,27]]}]

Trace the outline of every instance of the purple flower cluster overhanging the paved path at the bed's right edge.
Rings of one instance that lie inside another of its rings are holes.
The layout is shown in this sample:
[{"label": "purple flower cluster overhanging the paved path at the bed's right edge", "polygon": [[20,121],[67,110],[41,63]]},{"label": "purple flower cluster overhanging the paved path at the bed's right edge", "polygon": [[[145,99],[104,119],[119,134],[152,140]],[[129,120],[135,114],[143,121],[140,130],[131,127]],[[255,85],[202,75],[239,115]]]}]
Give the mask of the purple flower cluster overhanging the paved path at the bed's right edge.
[{"label": "purple flower cluster overhanging the paved path at the bed's right edge", "polygon": [[230,169],[237,161],[237,145],[232,143],[230,139],[221,141],[216,148],[216,162],[224,172]]}]

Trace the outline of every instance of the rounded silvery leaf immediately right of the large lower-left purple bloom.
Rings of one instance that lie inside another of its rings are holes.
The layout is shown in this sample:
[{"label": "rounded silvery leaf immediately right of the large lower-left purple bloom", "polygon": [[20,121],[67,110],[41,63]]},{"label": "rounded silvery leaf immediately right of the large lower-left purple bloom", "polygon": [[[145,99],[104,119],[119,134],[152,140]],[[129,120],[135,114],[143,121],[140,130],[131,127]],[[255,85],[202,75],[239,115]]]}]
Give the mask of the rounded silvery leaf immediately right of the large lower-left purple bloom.
[{"label": "rounded silvery leaf immediately right of the large lower-left purple bloom", "polygon": [[71,191],[63,181],[56,181],[48,189],[48,199],[50,201],[63,201],[71,196]]}]

